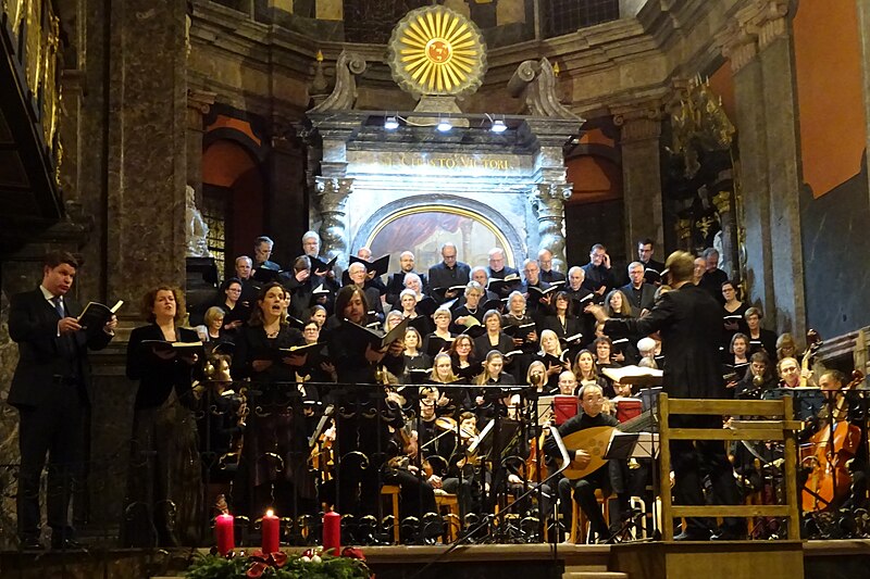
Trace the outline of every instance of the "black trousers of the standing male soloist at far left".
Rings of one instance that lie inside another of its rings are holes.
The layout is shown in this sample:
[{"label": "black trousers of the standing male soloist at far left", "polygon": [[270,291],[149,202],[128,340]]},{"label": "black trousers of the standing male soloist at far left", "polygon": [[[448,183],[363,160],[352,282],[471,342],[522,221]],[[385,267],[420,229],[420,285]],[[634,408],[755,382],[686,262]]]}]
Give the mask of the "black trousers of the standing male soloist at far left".
[{"label": "black trousers of the standing male soloist at far left", "polygon": [[39,479],[48,457],[46,503],[52,537],[72,537],[70,501],[83,469],[85,402],[73,383],[57,383],[38,406],[18,408],[21,471],[16,498],[18,537],[39,537]]}]

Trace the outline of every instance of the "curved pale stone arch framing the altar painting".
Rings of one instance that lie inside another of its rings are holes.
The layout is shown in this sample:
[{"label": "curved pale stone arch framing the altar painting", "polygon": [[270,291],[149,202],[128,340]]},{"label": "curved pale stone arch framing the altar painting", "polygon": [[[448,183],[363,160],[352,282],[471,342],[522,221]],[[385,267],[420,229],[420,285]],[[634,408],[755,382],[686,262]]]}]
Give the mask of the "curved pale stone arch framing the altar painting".
[{"label": "curved pale stone arch framing the altar painting", "polygon": [[[506,253],[508,253],[507,261],[509,265],[512,267],[522,267],[522,262],[526,255],[526,246],[517,231],[517,228],[508,219],[499,214],[497,210],[485,203],[448,194],[411,196],[391,201],[382,206],[365,219],[365,223],[357,230],[350,244],[349,254],[356,255],[359,248],[371,243],[380,228],[393,221],[390,217],[396,218],[417,213],[413,211],[414,209],[419,209],[420,213],[443,210],[446,213],[473,214],[475,218],[486,225],[496,237],[500,237],[505,240],[506,247],[504,249]],[[514,264],[519,264],[519,266]]]}]

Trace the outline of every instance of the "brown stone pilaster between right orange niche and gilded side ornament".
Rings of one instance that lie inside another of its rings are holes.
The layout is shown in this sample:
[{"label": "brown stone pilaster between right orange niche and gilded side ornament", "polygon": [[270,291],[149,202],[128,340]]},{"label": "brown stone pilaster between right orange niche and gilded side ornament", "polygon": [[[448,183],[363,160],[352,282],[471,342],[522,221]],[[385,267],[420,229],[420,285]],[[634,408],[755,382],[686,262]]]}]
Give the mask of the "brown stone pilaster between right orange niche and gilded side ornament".
[{"label": "brown stone pilaster between right orange niche and gilded side ornament", "polygon": [[634,254],[637,240],[650,238],[663,247],[661,205],[661,102],[657,99],[611,106],[620,127],[622,149],[622,198],[626,255]]}]

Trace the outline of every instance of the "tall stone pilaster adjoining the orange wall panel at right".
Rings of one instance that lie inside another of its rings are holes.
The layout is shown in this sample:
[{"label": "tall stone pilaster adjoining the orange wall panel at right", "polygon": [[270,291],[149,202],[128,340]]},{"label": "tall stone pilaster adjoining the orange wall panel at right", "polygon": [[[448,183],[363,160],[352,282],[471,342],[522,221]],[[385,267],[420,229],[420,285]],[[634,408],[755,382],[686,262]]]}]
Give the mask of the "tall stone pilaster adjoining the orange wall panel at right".
[{"label": "tall stone pilaster adjoining the orange wall panel at right", "polygon": [[737,11],[719,36],[734,71],[746,242],[746,301],[779,332],[806,332],[799,159],[786,0]]}]

